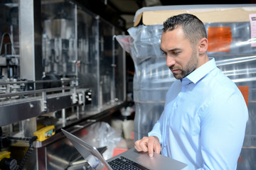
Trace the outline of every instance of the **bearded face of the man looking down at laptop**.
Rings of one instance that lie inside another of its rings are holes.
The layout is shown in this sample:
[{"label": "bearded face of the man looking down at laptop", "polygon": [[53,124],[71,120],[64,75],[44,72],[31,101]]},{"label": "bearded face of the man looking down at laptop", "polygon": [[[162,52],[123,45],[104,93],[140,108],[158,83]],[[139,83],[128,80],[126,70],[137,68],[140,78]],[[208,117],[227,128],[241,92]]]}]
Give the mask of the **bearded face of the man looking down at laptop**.
[{"label": "bearded face of the man looking down at laptop", "polygon": [[183,79],[198,67],[196,47],[191,47],[181,27],[162,33],[161,50],[166,57],[166,66],[176,79]]}]

